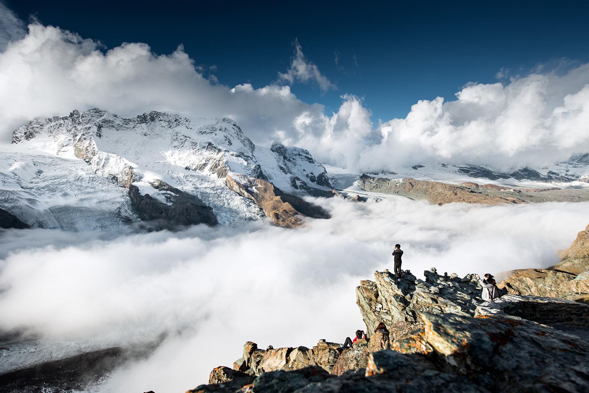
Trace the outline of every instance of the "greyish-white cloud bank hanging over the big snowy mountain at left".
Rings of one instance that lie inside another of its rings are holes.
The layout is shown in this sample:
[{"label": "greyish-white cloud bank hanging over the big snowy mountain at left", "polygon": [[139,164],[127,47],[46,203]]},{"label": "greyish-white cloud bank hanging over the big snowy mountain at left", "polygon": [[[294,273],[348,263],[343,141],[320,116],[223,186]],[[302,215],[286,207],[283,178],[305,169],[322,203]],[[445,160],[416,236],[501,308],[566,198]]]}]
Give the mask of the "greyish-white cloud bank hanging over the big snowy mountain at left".
[{"label": "greyish-white cloud bank hanging over the big snowy mountain at left", "polygon": [[289,86],[230,89],[195,66],[180,45],[156,55],[147,44],[128,43],[105,53],[101,45],[73,32],[34,23],[22,40],[0,53],[0,135],[37,116],[100,107],[120,116],[171,110],[202,117],[228,116],[256,143],[294,135],[303,112],[323,113]]}]

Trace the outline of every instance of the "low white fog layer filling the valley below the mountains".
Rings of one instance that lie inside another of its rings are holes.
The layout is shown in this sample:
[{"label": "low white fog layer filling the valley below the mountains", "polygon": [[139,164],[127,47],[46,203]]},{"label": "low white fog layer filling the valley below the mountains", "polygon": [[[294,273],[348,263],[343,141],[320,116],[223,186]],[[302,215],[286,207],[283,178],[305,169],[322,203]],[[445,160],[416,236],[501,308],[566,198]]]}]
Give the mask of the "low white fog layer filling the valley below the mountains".
[{"label": "low white fog layer filling the valley below the mountains", "polygon": [[149,359],[115,372],[102,390],[184,391],[239,358],[247,340],[310,347],[353,334],[363,326],[355,287],[391,268],[395,243],[403,267],[418,275],[432,266],[461,276],[545,267],[589,215],[589,202],[316,202],[333,218],[294,231],[263,222],[110,239],[6,231],[0,329],[28,327],[51,339],[166,331]]}]

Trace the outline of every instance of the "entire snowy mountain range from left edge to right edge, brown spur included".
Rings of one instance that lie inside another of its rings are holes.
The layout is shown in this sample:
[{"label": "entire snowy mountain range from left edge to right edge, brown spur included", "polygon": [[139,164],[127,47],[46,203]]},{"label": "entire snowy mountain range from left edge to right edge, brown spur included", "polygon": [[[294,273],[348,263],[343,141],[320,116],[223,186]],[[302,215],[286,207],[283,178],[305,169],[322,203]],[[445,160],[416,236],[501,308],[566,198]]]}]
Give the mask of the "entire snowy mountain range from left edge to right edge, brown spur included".
[{"label": "entire snowy mountain range from left edge to right edge, brown spur included", "polygon": [[[509,173],[481,165],[420,163],[369,175],[492,184],[507,187],[504,194],[518,187],[583,188],[564,196],[542,194],[545,200],[577,201],[587,199],[589,155]],[[241,225],[264,216],[292,227],[302,223],[299,216],[328,217],[303,196],[403,197],[395,190],[387,191],[397,193],[390,195],[362,188],[360,176],[324,166],[305,149],[256,146],[227,118],[150,112],[125,119],[98,109],[74,110],[31,120],[14,131],[11,145],[0,146],[0,209],[33,228],[75,231],[127,231],[147,221]]]}]

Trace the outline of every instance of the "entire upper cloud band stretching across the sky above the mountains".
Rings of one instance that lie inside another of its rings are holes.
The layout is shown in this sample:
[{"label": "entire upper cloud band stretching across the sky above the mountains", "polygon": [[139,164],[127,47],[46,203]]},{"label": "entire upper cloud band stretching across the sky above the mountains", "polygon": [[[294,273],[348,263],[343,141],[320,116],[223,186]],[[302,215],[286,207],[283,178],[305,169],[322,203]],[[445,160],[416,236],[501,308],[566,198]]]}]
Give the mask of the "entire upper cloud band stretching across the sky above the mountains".
[{"label": "entire upper cloud band stretching across the sky above the mountains", "polygon": [[505,170],[542,167],[589,152],[589,64],[537,67],[481,84],[464,81],[452,100],[418,101],[404,119],[370,119],[353,92],[325,113],[292,93],[294,83],[336,86],[305,57],[298,41],[290,66],[263,87],[224,86],[178,46],[168,55],[148,44],[102,47],[38,22],[24,27],[0,4],[0,137],[36,116],[92,107],[137,116],[171,110],[236,120],[254,143],[274,140],[310,150],[353,171],[395,170],[423,162],[474,163]]}]

